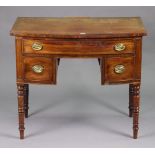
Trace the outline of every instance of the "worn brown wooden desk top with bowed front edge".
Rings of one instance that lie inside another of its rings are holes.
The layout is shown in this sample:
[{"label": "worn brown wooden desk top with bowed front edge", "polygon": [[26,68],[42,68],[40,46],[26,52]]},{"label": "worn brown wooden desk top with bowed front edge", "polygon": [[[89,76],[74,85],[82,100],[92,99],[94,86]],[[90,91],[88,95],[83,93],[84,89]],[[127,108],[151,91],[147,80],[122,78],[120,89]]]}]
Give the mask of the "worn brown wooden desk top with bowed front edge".
[{"label": "worn brown wooden desk top with bowed front edge", "polygon": [[14,36],[51,38],[109,38],[146,35],[140,17],[18,17]]}]

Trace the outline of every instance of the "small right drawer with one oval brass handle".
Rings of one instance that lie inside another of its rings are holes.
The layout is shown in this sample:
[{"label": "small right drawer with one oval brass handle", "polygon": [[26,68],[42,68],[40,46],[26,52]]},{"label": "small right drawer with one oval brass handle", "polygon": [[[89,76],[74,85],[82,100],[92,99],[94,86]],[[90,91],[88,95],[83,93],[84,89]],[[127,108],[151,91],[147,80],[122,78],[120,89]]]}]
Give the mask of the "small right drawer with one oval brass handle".
[{"label": "small right drawer with one oval brass handle", "polygon": [[128,83],[134,80],[134,56],[106,58],[103,64],[103,83]]}]

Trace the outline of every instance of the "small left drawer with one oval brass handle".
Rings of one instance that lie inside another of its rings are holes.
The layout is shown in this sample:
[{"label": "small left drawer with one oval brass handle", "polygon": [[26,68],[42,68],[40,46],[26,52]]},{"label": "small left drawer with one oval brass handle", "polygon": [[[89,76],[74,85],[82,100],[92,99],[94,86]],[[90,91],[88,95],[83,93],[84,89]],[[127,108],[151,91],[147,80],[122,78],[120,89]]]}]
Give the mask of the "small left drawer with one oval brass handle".
[{"label": "small left drawer with one oval brass handle", "polygon": [[24,81],[28,83],[56,84],[55,59],[25,57]]}]

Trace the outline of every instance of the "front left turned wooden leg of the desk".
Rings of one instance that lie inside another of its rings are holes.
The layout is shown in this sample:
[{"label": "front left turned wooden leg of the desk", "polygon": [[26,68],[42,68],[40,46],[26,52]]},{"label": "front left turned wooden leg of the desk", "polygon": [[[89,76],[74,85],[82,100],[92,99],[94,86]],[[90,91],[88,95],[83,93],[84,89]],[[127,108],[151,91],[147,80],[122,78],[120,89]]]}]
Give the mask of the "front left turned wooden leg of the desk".
[{"label": "front left turned wooden leg of the desk", "polygon": [[17,84],[20,139],[24,139],[24,84]]}]

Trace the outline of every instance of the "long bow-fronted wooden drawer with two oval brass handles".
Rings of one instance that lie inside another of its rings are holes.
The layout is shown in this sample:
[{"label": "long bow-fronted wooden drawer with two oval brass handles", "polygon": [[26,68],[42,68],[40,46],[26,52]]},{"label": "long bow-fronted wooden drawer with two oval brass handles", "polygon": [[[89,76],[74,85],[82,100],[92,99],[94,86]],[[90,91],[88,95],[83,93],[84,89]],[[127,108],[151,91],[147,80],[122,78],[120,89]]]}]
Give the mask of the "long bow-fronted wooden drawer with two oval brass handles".
[{"label": "long bow-fronted wooden drawer with two oval brass handles", "polygon": [[24,39],[23,52],[29,54],[123,54],[134,53],[132,39],[118,40],[36,40]]}]

